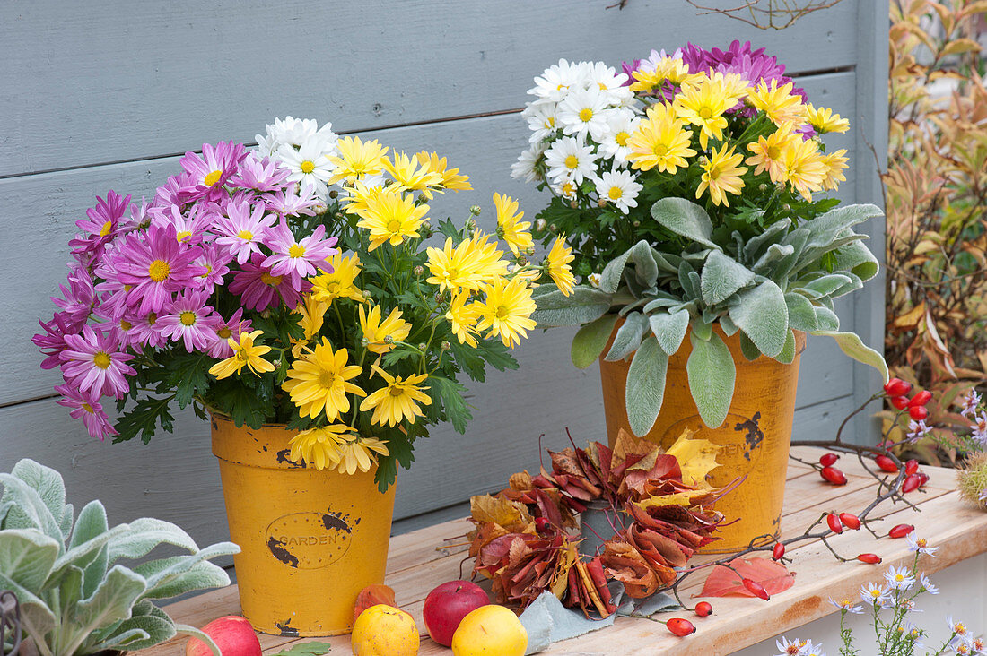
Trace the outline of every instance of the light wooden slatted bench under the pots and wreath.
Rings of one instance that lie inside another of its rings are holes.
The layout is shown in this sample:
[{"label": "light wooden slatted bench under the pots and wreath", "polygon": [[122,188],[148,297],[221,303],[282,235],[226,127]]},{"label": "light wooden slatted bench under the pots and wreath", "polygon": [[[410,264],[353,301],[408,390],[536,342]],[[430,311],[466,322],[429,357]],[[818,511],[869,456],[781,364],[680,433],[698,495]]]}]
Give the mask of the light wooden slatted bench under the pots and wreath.
[{"label": "light wooden slatted bench under the pots and wreath", "polygon": [[[820,453],[817,449],[794,450],[794,454],[805,461],[816,460]],[[823,482],[807,466],[790,461],[782,520],[784,539],[801,534],[824,512],[855,512],[873,500],[873,478],[863,471],[856,460],[844,456],[839,467],[847,474],[848,482],[833,486]],[[923,468],[923,471],[930,475],[924,491],[908,495],[908,499],[921,512],[904,504],[885,502],[871,514],[871,519],[884,518],[874,525],[875,532],[885,535],[895,524],[914,524],[917,536],[928,538],[933,546],[939,547],[937,557],[922,556],[922,569],[928,573],[987,551],[987,513],[959,499],[953,489],[954,471],[940,468]],[[422,656],[451,653],[432,642],[424,633],[421,607],[425,595],[436,585],[461,578],[461,563],[462,573],[469,574],[471,563],[463,563],[466,547],[462,543],[465,541],[456,540],[456,537],[463,536],[471,527],[468,521],[459,519],[391,540],[387,583],[394,588],[399,605],[418,622],[418,628],[423,633],[418,652]],[[620,618],[611,627],[556,643],[542,653],[578,653],[586,656],[698,653],[715,656],[733,653],[766,637],[792,631],[806,622],[835,613],[836,609],[829,603],[830,598],[856,598],[861,585],[880,579],[885,567],[910,566],[914,557],[908,550],[907,541],[874,540],[866,530],[845,531],[830,542],[846,557],[874,552],[883,558],[883,562],[877,567],[861,562],[839,563],[822,543],[800,543],[788,552],[793,558],[789,568],[796,573],[796,584],[790,590],[774,595],[768,602],[747,598],[714,599],[716,612],[705,619],[699,619],[692,613],[678,614],[678,617],[687,617],[696,624],[698,630],[691,636],[675,637],[659,622]],[[715,557],[697,556],[694,561]],[[697,593],[705,578],[704,574],[694,575],[680,591],[683,599]],[[979,582],[979,585],[982,587],[983,583]],[[240,602],[236,587],[230,586],[177,602],[168,606],[167,611],[175,620],[201,626],[209,620],[240,613]],[[667,614],[667,617],[675,615]],[[942,623],[939,618],[930,617],[929,620]],[[261,634],[260,638],[266,654],[276,653],[305,640],[266,634]],[[348,635],[310,639],[331,643],[331,653],[349,653]],[[831,652],[835,651],[835,643],[829,647]],[[176,638],[140,654],[167,656],[184,653],[184,648],[185,638]]]}]

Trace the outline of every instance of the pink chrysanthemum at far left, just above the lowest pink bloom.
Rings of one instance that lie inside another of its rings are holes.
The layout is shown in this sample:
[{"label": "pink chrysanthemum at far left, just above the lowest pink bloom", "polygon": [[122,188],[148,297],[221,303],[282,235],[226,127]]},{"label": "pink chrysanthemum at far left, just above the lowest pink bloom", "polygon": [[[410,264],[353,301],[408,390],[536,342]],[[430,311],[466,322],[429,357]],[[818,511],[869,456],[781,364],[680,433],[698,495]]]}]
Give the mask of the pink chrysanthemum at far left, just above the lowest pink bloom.
[{"label": "pink chrysanthemum at far left, just above the lowest pink bloom", "polygon": [[121,352],[109,335],[84,326],[82,334],[65,335],[65,345],[61,360],[67,383],[83,392],[116,399],[130,389],[126,377],[136,372],[126,361],[133,356]]}]

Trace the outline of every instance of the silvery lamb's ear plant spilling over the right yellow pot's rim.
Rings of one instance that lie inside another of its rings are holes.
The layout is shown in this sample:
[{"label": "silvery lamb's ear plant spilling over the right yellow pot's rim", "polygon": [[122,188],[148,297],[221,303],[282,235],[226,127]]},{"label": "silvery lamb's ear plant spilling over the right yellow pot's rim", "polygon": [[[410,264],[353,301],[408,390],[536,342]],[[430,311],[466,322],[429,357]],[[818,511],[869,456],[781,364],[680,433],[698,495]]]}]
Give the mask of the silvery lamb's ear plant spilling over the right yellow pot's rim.
[{"label": "silvery lamb's ear plant spilling over the right yellow pot's rim", "polygon": [[795,330],[831,336],[887,380],[880,354],[857,334],[840,332],[833,310],[833,299],[860,289],[877,273],[877,260],[861,243],[866,236],[853,231],[881,216],[877,207],[838,207],[797,225],[784,218],[754,235],[742,226],[715,229],[707,211],[685,198],[662,198],[650,213],[691,245],[671,253],[642,240],[606,264],[595,286],[579,285],[569,296],[552,285],[540,287],[534,315],[542,328],[582,326],[572,340],[577,367],[588,367],[600,355],[631,360],[626,396],[635,434],[645,435],[654,424],[668,357],[687,334],[692,353],[686,372],[700,416],[714,428],[725,420],[736,367],[716,325],[726,336],[739,332],[748,360],[766,355],[791,363]]}]

